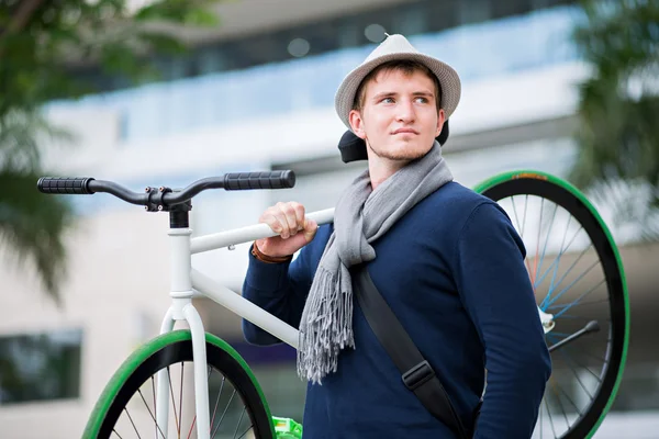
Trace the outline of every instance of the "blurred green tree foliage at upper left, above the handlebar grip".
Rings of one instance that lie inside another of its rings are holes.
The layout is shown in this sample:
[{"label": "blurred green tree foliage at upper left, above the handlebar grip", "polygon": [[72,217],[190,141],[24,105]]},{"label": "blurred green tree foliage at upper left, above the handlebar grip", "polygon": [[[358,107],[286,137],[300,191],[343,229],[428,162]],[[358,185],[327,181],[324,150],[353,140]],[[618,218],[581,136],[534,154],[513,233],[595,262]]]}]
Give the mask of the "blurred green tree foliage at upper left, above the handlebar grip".
[{"label": "blurred green tree foliage at upper left, above the handlebar grip", "polygon": [[93,91],[74,67],[100,66],[126,81],[153,77],[155,55],[180,54],[180,26],[216,25],[213,0],[3,0],[0,8],[0,245],[32,261],[58,299],[65,275],[64,235],[72,225],[69,200],[36,191],[40,143],[68,139],[48,125],[42,105]]}]

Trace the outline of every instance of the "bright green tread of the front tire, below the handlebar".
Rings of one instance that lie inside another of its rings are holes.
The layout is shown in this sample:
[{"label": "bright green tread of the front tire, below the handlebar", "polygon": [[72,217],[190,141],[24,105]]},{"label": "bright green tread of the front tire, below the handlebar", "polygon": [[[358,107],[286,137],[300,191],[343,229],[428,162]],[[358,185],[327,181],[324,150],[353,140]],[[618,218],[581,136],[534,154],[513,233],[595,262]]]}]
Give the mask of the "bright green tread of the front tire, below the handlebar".
[{"label": "bright green tread of the front tire, below the handlebar", "polygon": [[[123,364],[118,369],[112,379],[105,385],[105,389],[101,393],[101,396],[99,397],[93,410],[91,412],[91,416],[89,417],[89,420],[85,428],[85,432],[82,434],[82,439],[96,439],[98,437],[104,416],[108,413],[110,405],[114,401],[114,397],[116,396],[123,384],[126,382],[129,376],[131,376],[131,374],[135,372],[135,370],[144,361],[146,361],[146,359],[148,359],[150,356],[153,356],[154,353],[156,353],[157,351],[159,351],[168,345],[188,340],[192,340],[192,335],[190,330],[174,330],[155,337],[154,339],[145,342],[142,347],[135,350],[123,362]],[[238,364],[241,364],[241,367],[249,376],[252,384],[257,390],[268,418],[271,419],[272,415],[270,414],[270,407],[268,406],[266,396],[264,395],[264,392],[260,385],[258,384],[256,376],[252,372],[252,369],[249,369],[243,357],[241,357],[241,354],[231,345],[212,334],[205,334],[205,341],[206,344],[213,345],[224,350],[225,352],[231,354],[231,357],[233,357],[233,359],[236,360]],[[272,438],[277,438],[273,423],[270,423],[270,432]]]}]

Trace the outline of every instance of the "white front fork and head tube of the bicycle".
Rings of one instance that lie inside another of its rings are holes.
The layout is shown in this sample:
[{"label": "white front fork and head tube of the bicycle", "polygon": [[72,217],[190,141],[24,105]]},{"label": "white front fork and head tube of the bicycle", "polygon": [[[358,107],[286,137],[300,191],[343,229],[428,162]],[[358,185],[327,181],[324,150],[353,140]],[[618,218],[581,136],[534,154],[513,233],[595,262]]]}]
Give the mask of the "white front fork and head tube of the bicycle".
[{"label": "white front fork and head tube of the bicycle", "polygon": [[[209,375],[206,370],[205,331],[201,316],[192,305],[192,283],[190,279],[190,235],[186,225],[181,228],[170,228],[171,260],[171,297],[172,305],[167,311],[160,334],[174,329],[176,320],[186,320],[192,335],[192,359],[194,364],[194,409],[197,437],[210,439],[209,414]],[[181,380],[183,376],[181,376]],[[158,372],[156,390],[156,439],[167,439],[170,378],[168,369]]]}]

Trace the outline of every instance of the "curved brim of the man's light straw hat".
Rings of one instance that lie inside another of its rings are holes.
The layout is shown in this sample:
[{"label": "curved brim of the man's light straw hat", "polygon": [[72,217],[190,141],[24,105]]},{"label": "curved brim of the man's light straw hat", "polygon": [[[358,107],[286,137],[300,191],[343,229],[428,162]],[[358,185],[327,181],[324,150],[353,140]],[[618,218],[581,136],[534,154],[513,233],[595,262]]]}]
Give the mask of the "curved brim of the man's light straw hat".
[{"label": "curved brim of the man's light straw hat", "polygon": [[399,52],[371,59],[370,61],[355,68],[344,78],[343,82],[338,87],[338,90],[336,91],[334,105],[338,117],[349,130],[351,130],[351,127],[348,115],[353,110],[355,94],[357,93],[357,89],[359,88],[359,85],[364,78],[366,78],[366,76],[375,68],[384,63],[405,59],[418,61],[431,69],[433,74],[435,74],[439,81],[439,86],[442,87],[442,108],[446,113],[446,119],[453,114],[458,106],[461,93],[460,77],[456,70],[448,64],[443,63],[437,58],[433,58],[432,56],[420,53]]}]

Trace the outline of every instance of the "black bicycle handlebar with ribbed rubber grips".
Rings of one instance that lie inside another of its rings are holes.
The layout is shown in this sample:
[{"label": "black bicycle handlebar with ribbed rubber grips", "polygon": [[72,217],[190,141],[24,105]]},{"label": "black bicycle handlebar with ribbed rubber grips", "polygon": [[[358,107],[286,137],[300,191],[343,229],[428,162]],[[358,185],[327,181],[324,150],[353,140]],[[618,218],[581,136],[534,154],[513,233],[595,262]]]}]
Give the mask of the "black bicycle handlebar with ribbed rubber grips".
[{"label": "black bicycle handlebar with ribbed rubber grips", "polygon": [[[232,172],[222,177],[210,177],[197,180],[180,192],[159,189],[158,201],[163,206],[186,203],[206,189],[224,189],[227,191],[250,189],[286,189],[295,185],[295,175],[291,170],[269,172]],[[42,177],[36,187],[43,193],[58,194],[93,194],[110,193],[131,204],[146,205],[153,203],[152,188],[145,193],[133,192],[112,181],[96,180],[91,177]]]}]

